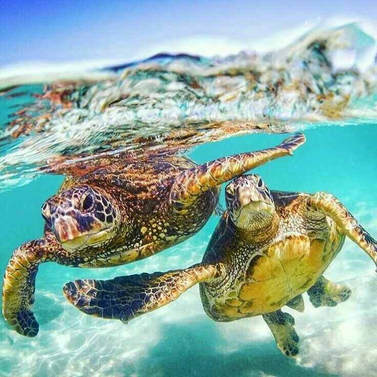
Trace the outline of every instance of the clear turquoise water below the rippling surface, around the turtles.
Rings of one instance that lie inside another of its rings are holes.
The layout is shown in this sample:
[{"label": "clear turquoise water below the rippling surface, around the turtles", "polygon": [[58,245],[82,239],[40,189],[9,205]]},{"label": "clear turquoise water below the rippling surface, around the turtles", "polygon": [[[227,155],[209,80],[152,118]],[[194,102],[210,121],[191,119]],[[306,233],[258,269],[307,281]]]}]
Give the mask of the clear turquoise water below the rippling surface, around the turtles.
[{"label": "clear turquoise water below the rippling surface, around the turtles", "polygon": [[[377,128],[318,127],[305,131],[307,142],[293,157],[261,166],[270,189],[328,191],[377,236]],[[203,144],[191,153],[198,163],[278,144],[284,135],[233,137]],[[0,269],[15,247],[41,236],[40,206],[53,195],[61,176],[41,176],[0,193],[2,237]],[[221,198],[224,204],[224,198]],[[36,282],[36,338],[19,336],[1,319],[0,375],[37,376],[374,376],[377,354],[377,289],[374,264],[350,241],[325,276],[343,281],[351,298],[335,308],[311,307],[296,318],[300,357],[290,360],[277,349],[259,317],[215,323],[206,317],[193,287],[177,301],[123,325],[83,315],[69,304],[61,287],[77,278],[113,278],[182,268],[200,262],[218,222],[212,217],[186,242],[144,261],[116,268],[78,269],[42,265]],[[285,310],[285,308],[284,308]]]}]

